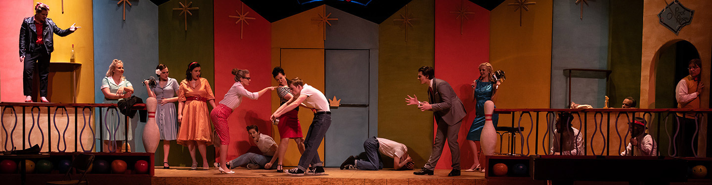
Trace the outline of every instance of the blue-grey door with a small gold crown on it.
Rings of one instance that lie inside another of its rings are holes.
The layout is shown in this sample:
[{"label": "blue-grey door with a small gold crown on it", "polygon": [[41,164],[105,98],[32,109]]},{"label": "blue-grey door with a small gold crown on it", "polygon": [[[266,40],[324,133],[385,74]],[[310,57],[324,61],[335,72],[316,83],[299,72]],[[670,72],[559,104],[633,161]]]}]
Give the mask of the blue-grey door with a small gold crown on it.
[{"label": "blue-grey door with a small gold crown on it", "polygon": [[363,152],[369,130],[369,51],[325,51],[325,95],[340,99],[332,107],[325,137],[325,166],[340,166],[350,155]]}]

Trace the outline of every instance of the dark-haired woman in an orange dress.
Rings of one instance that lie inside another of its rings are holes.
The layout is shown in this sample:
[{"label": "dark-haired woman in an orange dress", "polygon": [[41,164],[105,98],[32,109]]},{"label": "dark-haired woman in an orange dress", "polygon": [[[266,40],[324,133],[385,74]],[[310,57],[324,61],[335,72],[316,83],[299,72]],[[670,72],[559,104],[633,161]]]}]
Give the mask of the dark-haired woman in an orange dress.
[{"label": "dark-haired woman in an orange dress", "polygon": [[215,107],[215,96],[208,80],[200,77],[200,64],[190,63],[185,72],[186,78],[182,80],[178,90],[178,144],[188,147],[190,157],[193,159],[191,169],[197,169],[195,160],[195,147],[197,145],[203,157],[203,169],[207,170],[206,146],[211,143],[210,115],[208,103]]}]

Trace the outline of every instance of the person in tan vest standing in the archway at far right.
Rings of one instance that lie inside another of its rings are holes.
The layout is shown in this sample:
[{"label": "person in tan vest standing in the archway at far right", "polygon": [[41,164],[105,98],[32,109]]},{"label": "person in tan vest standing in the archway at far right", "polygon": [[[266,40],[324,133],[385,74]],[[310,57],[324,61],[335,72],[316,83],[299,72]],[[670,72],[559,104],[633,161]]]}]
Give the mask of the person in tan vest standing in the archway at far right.
[{"label": "person in tan vest standing in the archway at far right", "polygon": [[[702,60],[699,58],[692,59],[687,65],[687,70],[690,75],[682,78],[675,88],[675,99],[677,100],[677,108],[679,109],[698,109],[700,108],[700,95],[705,85],[700,80],[702,74]],[[678,127],[673,127],[674,133],[679,133],[680,137],[674,139],[677,148],[676,157],[696,157],[692,149],[697,148],[697,138],[694,138],[696,114],[695,112],[676,113],[679,123]],[[699,135],[699,134],[698,134]]]}]

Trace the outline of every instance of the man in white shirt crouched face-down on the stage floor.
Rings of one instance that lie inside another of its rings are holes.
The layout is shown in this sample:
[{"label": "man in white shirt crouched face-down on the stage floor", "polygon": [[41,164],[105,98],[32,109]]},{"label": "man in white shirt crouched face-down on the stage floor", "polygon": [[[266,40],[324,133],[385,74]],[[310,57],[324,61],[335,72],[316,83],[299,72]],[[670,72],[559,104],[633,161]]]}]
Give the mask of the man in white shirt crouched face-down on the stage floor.
[{"label": "man in white shirt crouched face-down on the stage floor", "polygon": [[413,169],[413,159],[408,156],[408,147],[405,144],[389,139],[371,137],[363,142],[363,148],[366,152],[362,152],[358,156],[350,156],[341,164],[340,169],[350,166],[355,166],[356,169],[362,170],[383,169],[383,160],[378,152],[393,158],[393,168],[396,170]]}]

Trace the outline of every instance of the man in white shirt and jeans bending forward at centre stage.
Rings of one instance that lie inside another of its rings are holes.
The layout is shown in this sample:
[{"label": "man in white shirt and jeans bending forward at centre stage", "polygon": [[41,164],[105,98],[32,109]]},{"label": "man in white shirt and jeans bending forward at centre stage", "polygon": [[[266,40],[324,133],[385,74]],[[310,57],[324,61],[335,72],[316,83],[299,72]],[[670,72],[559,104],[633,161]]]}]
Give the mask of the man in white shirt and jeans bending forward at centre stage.
[{"label": "man in white shirt and jeans bending forward at centre stage", "polygon": [[321,159],[319,159],[318,148],[319,145],[321,145],[321,140],[324,139],[326,135],[326,131],[331,125],[329,102],[326,100],[324,93],[321,93],[321,91],[311,85],[305,84],[300,78],[290,80],[289,88],[294,95],[272,114],[270,120],[274,122],[277,117],[293,110],[301,103],[313,108],[316,113],[314,113],[314,119],[312,120],[312,124],[309,125],[309,131],[304,139],[304,153],[302,153],[302,157],[299,158],[299,165],[295,169],[284,171],[284,173],[289,175],[304,175],[306,173],[305,171],[307,171],[307,167],[311,165],[310,173],[315,175],[325,174],[323,163]]}]

